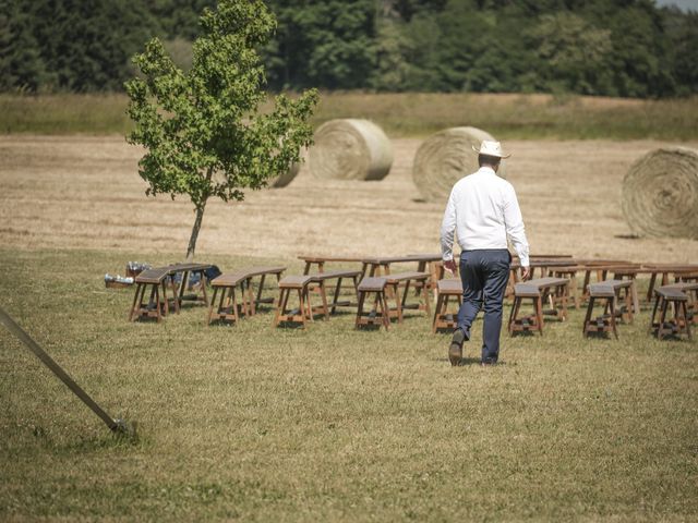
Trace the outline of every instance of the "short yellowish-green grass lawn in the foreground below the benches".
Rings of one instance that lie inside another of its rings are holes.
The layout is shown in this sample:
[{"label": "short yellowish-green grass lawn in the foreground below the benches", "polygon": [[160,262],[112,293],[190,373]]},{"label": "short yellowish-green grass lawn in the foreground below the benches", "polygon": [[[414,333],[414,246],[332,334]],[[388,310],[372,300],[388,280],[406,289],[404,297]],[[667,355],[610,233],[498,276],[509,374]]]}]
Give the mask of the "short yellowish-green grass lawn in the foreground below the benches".
[{"label": "short yellowish-green grass lawn in the foreground below the benches", "polygon": [[0,250],[0,306],[140,435],[112,437],[1,329],[0,520],[698,516],[698,344],[657,341],[647,312],[619,341],[585,340],[581,311],[505,335],[495,368],[479,321],[452,368],[418,314],[388,332],[350,314],[274,329],[268,309],[207,327],[191,306],[130,324],[133,291],[103,277],[143,258],[177,259]]}]

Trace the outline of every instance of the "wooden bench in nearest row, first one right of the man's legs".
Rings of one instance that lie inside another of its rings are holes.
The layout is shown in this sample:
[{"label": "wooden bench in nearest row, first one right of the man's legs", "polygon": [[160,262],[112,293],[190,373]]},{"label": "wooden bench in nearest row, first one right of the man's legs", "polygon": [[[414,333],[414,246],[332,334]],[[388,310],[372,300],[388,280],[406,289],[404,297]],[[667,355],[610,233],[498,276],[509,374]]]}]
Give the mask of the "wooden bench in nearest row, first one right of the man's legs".
[{"label": "wooden bench in nearest row, first one right of the man's legs", "polygon": [[[537,278],[514,287],[514,304],[509,314],[508,331],[513,336],[517,331],[537,330],[543,336],[543,302],[550,297],[552,311],[558,319],[567,318],[567,288],[569,280],[565,278]],[[521,302],[531,299],[533,314],[519,317]],[[559,309],[557,307],[561,307]]]}]

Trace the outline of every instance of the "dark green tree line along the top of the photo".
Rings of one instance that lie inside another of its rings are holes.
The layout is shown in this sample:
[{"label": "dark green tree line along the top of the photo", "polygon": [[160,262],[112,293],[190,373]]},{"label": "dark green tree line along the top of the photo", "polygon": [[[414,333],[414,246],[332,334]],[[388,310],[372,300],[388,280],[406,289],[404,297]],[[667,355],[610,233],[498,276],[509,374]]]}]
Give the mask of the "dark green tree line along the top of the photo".
[{"label": "dark green tree line along the top of the photo", "polygon": [[[152,36],[182,66],[215,0],[0,0],[0,90],[121,90]],[[698,13],[652,0],[268,0],[273,89],[698,92]]]}]

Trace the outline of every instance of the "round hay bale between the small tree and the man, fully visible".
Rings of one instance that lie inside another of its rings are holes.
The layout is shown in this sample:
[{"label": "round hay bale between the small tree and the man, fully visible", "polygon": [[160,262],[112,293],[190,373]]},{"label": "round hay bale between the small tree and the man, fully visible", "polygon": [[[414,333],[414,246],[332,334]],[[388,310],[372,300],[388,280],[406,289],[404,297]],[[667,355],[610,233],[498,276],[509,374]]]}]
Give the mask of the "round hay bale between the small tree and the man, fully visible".
[{"label": "round hay bale between the small tree and the man, fully visible", "polygon": [[332,180],[383,180],[393,165],[393,144],[368,120],[323,123],[310,148],[310,172]]}]

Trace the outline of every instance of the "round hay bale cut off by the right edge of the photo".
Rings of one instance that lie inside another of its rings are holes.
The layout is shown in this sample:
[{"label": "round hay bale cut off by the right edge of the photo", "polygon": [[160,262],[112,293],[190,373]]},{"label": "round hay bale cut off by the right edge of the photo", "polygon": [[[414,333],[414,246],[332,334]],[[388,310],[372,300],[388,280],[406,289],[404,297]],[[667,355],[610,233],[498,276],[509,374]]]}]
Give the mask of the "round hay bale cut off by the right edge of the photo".
[{"label": "round hay bale cut off by the right edge of the photo", "polygon": [[622,192],[634,233],[698,239],[698,150],[650,150],[630,166]]}]

